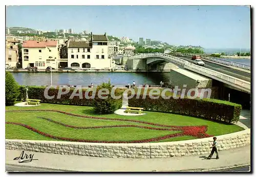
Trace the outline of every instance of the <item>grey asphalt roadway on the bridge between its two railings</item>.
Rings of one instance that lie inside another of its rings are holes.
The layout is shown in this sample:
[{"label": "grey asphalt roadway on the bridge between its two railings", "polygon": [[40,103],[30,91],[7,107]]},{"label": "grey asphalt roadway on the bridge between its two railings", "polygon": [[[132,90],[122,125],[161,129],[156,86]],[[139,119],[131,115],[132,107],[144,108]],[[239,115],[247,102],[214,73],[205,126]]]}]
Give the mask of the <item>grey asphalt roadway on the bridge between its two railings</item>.
[{"label": "grey asphalt roadway on the bridge between its two railings", "polygon": [[[191,60],[191,57],[178,57],[180,59],[186,60],[190,63],[193,63],[193,60]],[[251,81],[251,74],[247,73],[247,72],[243,72],[240,70],[236,70],[236,69],[232,69],[229,67],[225,67],[225,66],[221,66],[215,63],[211,63],[211,62],[207,62],[207,61],[203,61],[205,63],[204,67],[208,68],[208,69],[212,69],[215,71],[219,71],[221,73],[230,75],[232,77],[238,78],[238,79],[242,79],[244,81]]]}]

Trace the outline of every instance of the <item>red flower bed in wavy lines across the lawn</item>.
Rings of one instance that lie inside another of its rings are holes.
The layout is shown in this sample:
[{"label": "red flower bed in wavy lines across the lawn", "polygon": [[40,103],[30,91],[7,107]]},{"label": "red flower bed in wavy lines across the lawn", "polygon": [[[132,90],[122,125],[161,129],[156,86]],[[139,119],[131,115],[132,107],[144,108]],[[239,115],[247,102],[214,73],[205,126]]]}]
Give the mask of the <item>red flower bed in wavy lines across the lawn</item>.
[{"label": "red flower bed in wavy lines across the lawn", "polygon": [[140,121],[140,120],[132,120],[132,119],[118,119],[118,118],[104,118],[104,117],[92,117],[92,116],[82,116],[82,115],[76,115],[76,114],[71,114],[71,113],[66,113],[63,111],[58,111],[58,110],[21,110],[21,111],[6,111],[6,112],[24,112],[24,111],[53,111],[53,112],[59,112],[63,113],[66,115],[71,115],[71,116],[77,116],[77,117],[84,117],[84,118],[93,118],[93,119],[105,119],[105,120],[117,120],[117,121],[127,121],[127,122],[139,122],[143,124],[149,124],[149,125],[156,125],[159,127],[168,127],[168,128],[153,128],[153,127],[144,127],[140,125],[108,125],[108,126],[98,126],[98,127],[76,127],[74,125],[69,125],[65,123],[61,123],[49,118],[45,117],[37,117],[41,119],[45,119],[47,121],[51,121],[53,123],[73,128],[73,129],[101,129],[101,128],[115,128],[115,127],[136,127],[136,128],[141,128],[141,129],[150,129],[150,130],[161,130],[161,131],[181,131],[181,133],[175,133],[175,134],[169,134],[165,136],[160,136],[156,138],[150,138],[150,139],[144,139],[144,140],[133,140],[133,141],[97,141],[97,140],[84,140],[84,139],[72,139],[72,138],[65,138],[65,137],[56,137],[44,132],[41,132],[39,130],[36,130],[29,125],[22,124],[22,123],[16,123],[16,122],[6,122],[9,124],[16,124],[23,126],[29,130],[32,130],[33,132],[36,132],[40,135],[53,138],[53,139],[59,139],[59,140],[65,140],[65,141],[77,141],[77,142],[97,142],[97,143],[146,143],[146,142],[154,142],[154,141],[159,141],[167,138],[173,138],[173,137],[178,137],[178,136],[194,136],[197,138],[206,138],[206,137],[211,137],[211,135],[206,134],[207,131],[207,126],[173,126],[173,125],[163,125],[163,124],[157,124],[157,123],[152,123],[152,122],[145,122],[145,121]]}]

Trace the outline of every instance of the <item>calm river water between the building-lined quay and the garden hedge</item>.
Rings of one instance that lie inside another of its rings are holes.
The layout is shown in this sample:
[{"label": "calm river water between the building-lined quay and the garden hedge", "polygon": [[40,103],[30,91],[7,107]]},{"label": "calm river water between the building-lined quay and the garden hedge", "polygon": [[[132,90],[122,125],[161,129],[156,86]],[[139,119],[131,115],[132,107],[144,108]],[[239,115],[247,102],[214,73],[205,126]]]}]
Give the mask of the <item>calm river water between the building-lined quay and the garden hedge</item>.
[{"label": "calm river water between the building-lined quay and the garden hedge", "polygon": [[[27,73],[27,72],[13,72],[15,80],[19,85],[28,86],[48,86],[51,85],[51,74],[38,72],[38,73]],[[93,83],[99,85],[103,82],[111,81],[112,85],[127,85],[133,84],[135,81],[136,85],[147,84],[160,85],[160,81],[169,81],[169,72],[148,72],[148,73],[113,73],[113,72],[95,72],[95,73],[52,73],[52,84],[53,85],[81,85],[88,87]]]}]

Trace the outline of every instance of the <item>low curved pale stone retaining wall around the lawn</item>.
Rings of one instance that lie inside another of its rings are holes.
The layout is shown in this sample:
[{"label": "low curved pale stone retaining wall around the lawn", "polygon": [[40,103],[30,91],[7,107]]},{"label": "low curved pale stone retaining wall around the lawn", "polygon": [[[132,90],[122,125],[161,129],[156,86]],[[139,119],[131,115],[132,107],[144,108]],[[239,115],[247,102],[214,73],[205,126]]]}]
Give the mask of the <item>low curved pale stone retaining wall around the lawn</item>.
[{"label": "low curved pale stone retaining wall around the lawn", "polygon": [[[250,144],[250,129],[217,136],[218,149],[225,150]],[[6,139],[6,149],[41,153],[110,158],[167,158],[209,154],[212,137],[162,143],[82,143],[65,141],[32,141]]]}]

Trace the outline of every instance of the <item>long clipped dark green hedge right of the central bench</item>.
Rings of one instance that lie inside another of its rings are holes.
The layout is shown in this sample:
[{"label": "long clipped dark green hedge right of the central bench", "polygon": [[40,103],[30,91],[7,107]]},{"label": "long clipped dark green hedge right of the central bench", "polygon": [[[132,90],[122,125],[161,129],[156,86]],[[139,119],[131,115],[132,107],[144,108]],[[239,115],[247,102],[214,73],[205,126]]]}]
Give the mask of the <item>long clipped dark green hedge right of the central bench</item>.
[{"label": "long clipped dark green hedge right of the central bench", "polygon": [[145,99],[136,95],[129,99],[130,107],[144,108],[145,111],[156,111],[165,113],[175,113],[234,123],[239,120],[242,106],[218,99],[151,99],[148,95]]}]

